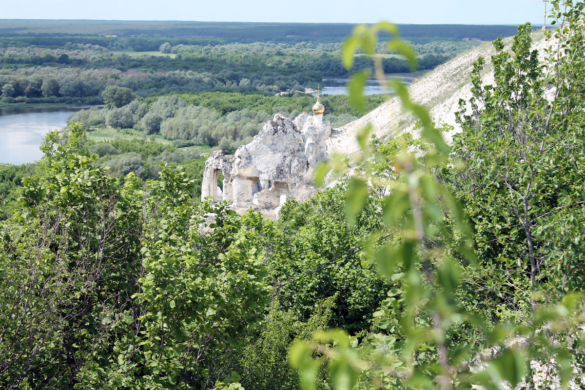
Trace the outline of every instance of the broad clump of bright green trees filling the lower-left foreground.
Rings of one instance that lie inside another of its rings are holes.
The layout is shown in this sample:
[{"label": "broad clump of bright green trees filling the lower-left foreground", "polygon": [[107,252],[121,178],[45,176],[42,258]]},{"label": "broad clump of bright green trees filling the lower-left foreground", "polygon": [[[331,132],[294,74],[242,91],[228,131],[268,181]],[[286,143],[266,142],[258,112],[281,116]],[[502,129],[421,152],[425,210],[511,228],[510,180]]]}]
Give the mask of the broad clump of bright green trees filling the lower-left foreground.
[{"label": "broad clump of bright green trees filling the lower-left foreground", "polygon": [[0,387],[213,386],[267,303],[240,217],[169,168],[113,179],[72,131],[2,225]]}]

